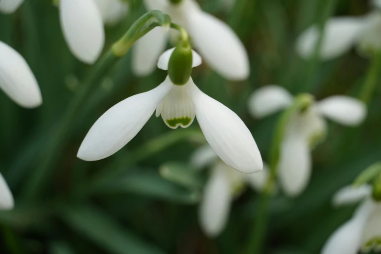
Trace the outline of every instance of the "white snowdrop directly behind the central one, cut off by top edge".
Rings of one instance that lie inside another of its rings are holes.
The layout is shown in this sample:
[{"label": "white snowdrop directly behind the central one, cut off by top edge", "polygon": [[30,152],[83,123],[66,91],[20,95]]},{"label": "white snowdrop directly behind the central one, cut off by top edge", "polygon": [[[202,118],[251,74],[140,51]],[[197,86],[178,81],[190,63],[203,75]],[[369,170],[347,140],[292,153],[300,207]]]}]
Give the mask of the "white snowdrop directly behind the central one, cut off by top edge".
[{"label": "white snowdrop directly behind the central one, cut off by top edge", "polygon": [[[171,4],[168,0],[145,0],[145,6],[150,10],[160,10],[168,14],[172,21],[183,26],[206,62],[221,76],[230,80],[247,79],[250,73],[249,59],[245,47],[227,24],[214,16],[203,12],[195,0],[182,0],[179,4]],[[151,31],[150,33],[158,33]],[[149,33],[148,33],[149,35]],[[155,38],[152,36],[152,38]],[[167,36],[155,39],[140,40],[141,49],[148,50],[152,41],[159,44],[146,53],[146,64],[141,63],[137,74],[151,73],[154,70],[152,61],[163,52]],[[161,46],[161,47],[159,47]],[[140,50],[143,53],[144,50]],[[135,53],[139,54],[139,53]],[[153,58],[153,60],[150,60]],[[141,59],[135,57],[134,59]]]}]

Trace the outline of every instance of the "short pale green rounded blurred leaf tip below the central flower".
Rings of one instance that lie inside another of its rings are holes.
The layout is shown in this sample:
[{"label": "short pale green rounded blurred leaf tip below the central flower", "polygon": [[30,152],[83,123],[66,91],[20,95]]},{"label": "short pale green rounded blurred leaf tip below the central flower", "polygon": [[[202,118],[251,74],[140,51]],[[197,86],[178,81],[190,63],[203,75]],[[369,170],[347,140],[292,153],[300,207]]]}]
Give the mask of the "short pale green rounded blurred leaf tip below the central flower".
[{"label": "short pale green rounded blurred leaf tip below the central flower", "polygon": [[160,175],[168,180],[190,189],[200,189],[202,182],[196,169],[186,163],[168,162],[160,166]]}]

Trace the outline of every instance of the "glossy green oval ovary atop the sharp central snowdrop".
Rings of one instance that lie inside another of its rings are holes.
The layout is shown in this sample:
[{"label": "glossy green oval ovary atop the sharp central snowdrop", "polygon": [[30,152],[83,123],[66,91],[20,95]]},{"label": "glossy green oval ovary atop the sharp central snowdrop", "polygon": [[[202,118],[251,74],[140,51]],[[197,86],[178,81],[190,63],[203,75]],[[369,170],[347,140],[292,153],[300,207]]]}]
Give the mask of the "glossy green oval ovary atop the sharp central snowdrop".
[{"label": "glossy green oval ovary atop the sharp central snowdrop", "polygon": [[184,85],[192,74],[192,48],[187,41],[177,44],[168,63],[168,75],[175,85]]}]

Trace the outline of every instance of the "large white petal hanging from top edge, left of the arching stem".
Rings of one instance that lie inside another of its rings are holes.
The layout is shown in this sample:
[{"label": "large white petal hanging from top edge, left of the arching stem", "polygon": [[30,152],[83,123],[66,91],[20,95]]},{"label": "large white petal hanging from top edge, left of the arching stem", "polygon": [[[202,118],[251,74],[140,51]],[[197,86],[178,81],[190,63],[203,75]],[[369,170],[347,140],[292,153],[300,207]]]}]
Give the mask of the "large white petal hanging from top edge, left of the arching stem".
[{"label": "large white petal hanging from top edge, left of the arching stem", "polygon": [[82,62],[94,63],[105,44],[103,20],[95,0],[60,0],[59,11],[71,52]]}]

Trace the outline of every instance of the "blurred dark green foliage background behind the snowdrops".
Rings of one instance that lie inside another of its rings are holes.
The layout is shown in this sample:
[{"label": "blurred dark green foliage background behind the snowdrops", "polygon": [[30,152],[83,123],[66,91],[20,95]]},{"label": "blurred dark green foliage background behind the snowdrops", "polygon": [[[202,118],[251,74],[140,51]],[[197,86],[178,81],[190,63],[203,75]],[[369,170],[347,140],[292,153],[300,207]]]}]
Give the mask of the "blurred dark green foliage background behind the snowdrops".
[{"label": "blurred dark green foliage background behind the snowdrops", "polygon": [[[122,22],[106,28],[109,46],[146,10],[129,0]],[[249,127],[267,161],[280,114],[260,121],[247,109],[255,89],[277,84],[317,100],[333,94],[359,97],[370,60],[353,49],[319,63],[301,59],[297,36],[330,16],[361,16],[367,0],[200,0],[202,9],[227,22],[243,41],[251,62],[245,82],[229,82],[206,64],[192,74],[202,91],[235,111]],[[197,187],[181,181],[191,153],[204,144],[199,126],[169,129],[152,117],[122,150],[99,162],[76,153],[91,125],[107,109],[133,94],[148,91],[166,75],[131,72],[131,52],[107,75],[78,112],[69,138],[54,153],[34,195],[28,181],[44,162],[50,134],[92,67],[70,53],[50,0],[26,0],[13,15],[0,14],[0,40],[24,56],[36,75],[43,105],[22,109],[0,92],[0,171],[16,206],[0,212],[0,253],[4,254],[241,254],[250,240],[258,193],[251,189],[234,201],[229,222],[216,238],[200,230],[198,209],[209,171],[191,174]],[[168,48],[170,45],[168,45]],[[1,57],[1,55],[0,55]],[[381,71],[381,70],[380,70]],[[295,199],[281,192],[270,203],[264,254],[318,254],[328,236],[351,217],[354,207],[334,209],[332,195],[368,165],[381,159],[381,84],[361,127],[329,123],[327,140],[313,151],[313,175]],[[163,172],[166,172],[163,177]],[[104,176],[117,174],[98,184]],[[169,174],[169,175],[168,175]],[[189,175],[189,174],[188,174]]]}]

